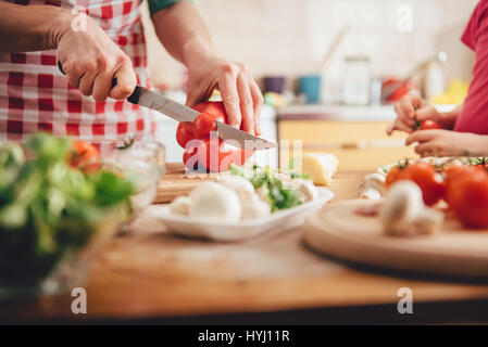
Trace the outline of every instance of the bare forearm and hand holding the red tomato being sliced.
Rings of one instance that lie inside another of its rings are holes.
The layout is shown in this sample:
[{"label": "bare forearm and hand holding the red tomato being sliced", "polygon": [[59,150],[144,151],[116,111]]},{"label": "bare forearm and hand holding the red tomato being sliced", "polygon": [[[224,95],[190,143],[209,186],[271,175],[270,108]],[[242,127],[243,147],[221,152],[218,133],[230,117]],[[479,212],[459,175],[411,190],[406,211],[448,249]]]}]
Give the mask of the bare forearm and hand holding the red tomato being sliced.
[{"label": "bare forearm and hand holding the red tomato being sliced", "polygon": [[263,97],[245,65],[223,57],[213,48],[209,30],[190,1],[155,12],[151,16],[164,48],[188,67],[187,105],[207,101],[221,91],[228,123],[260,134],[259,116]]}]

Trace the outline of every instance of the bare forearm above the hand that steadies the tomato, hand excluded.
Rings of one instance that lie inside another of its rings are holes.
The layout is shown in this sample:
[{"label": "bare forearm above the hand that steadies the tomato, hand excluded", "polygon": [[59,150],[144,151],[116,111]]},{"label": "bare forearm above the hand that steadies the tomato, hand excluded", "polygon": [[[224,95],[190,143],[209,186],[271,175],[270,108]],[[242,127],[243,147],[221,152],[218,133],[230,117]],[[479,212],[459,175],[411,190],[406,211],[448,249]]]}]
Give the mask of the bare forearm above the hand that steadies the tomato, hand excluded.
[{"label": "bare forearm above the hand that steadies the tomato, hand excluded", "polygon": [[151,20],[158,38],[167,52],[187,66],[192,63],[195,52],[213,50],[209,30],[189,1],[180,1],[158,11]]}]

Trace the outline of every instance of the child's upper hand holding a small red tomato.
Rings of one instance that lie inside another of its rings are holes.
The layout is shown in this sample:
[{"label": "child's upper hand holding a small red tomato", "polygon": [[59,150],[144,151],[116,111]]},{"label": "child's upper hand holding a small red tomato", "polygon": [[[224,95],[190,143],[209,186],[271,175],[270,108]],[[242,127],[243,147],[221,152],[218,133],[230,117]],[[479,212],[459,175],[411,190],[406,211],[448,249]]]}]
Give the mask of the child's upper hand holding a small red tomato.
[{"label": "child's upper hand holding a small red tomato", "polygon": [[[431,119],[442,127],[442,114],[433,104],[418,95],[409,94],[395,104],[397,119],[390,125],[386,132],[391,134],[395,130],[405,132],[415,131],[416,121]],[[443,127],[442,127],[443,128]]]}]

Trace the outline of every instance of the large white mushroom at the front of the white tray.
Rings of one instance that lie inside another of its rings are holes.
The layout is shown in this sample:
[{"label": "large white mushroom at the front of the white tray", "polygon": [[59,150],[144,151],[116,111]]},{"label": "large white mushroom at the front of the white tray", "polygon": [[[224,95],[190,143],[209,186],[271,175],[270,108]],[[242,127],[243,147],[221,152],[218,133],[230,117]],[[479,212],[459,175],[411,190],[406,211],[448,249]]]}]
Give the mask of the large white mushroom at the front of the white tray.
[{"label": "large white mushroom at the front of the white tray", "polygon": [[242,205],[235,191],[216,182],[204,182],[190,192],[189,215],[205,219],[238,221]]}]

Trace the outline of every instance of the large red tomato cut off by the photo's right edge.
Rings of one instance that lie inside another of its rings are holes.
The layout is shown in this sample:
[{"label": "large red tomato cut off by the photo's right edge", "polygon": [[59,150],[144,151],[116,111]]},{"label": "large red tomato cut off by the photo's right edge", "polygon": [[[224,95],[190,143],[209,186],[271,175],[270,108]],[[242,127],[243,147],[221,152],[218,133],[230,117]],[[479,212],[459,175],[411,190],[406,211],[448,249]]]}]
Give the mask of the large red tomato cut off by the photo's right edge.
[{"label": "large red tomato cut off by the photo's right edge", "polygon": [[488,174],[474,169],[458,176],[448,194],[449,207],[464,226],[488,228]]}]

